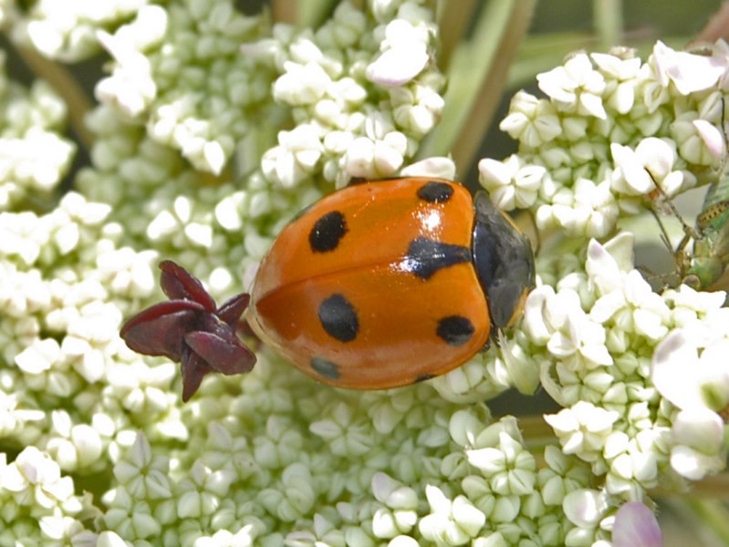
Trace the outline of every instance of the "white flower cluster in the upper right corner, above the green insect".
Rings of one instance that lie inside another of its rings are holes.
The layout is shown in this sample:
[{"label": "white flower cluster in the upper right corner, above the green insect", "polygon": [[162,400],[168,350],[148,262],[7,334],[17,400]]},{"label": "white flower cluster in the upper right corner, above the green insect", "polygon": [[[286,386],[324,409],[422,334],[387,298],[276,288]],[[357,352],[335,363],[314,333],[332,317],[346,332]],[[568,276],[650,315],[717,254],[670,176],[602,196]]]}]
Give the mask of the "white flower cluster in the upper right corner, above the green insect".
[{"label": "white flower cluster in the upper right corner, above the green insect", "polygon": [[540,229],[605,237],[619,215],[693,187],[724,161],[729,49],[703,56],[659,42],[646,63],[628,50],[576,54],[537,76],[547,98],[519,92],[501,129],[519,142],[482,160],[480,181],[503,209],[528,208]]}]

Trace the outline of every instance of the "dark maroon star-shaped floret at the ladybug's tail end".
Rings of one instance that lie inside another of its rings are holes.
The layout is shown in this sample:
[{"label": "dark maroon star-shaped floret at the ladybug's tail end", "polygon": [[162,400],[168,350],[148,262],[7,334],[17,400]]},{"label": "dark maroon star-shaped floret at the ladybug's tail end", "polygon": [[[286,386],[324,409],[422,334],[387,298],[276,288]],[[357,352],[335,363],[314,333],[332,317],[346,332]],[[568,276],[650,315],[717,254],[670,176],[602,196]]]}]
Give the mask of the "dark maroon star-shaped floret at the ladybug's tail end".
[{"label": "dark maroon star-shaped floret at the ladybug's tail end", "polygon": [[250,294],[237,294],[216,307],[203,284],[182,266],[165,260],[160,269],[162,291],[170,300],[142,310],[121,327],[127,346],[147,356],[166,356],[181,363],[185,402],[208,372],[250,372],[255,354],[235,334]]}]

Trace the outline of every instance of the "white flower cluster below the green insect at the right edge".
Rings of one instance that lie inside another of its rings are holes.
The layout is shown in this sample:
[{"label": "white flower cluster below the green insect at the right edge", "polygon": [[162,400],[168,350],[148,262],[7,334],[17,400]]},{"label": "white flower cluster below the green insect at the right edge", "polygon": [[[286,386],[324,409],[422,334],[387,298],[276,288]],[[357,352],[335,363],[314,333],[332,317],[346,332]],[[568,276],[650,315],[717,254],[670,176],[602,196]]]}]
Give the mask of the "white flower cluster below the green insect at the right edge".
[{"label": "white flower cluster below the green insect at the right edge", "polygon": [[[604,246],[591,241],[584,272],[529,295],[529,353],[541,362],[542,386],[563,407],[547,423],[565,454],[604,476],[600,496],[640,501],[661,474],[696,480],[724,468],[717,414],[729,401],[723,304],[724,293],[685,285],[653,293],[632,269],[627,232]],[[590,526],[612,514],[609,508],[606,501]]]}]

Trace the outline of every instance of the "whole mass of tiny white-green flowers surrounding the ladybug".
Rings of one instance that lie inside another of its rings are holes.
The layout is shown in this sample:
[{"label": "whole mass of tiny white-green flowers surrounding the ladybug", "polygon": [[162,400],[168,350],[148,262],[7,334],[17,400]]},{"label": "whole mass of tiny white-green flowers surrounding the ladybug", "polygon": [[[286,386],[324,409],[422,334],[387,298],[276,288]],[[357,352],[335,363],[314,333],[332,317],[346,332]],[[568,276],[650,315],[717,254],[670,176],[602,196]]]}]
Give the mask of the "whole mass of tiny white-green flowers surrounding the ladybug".
[{"label": "whole mass of tiny white-green flowers surrounding the ladybug", "polygon": [[[724,42],[578,52],[516,92],[500,128],[518,149],[477,172],[533,217],[537,286],[490,350],[359,392],[252,344],[250,373],[182,404],[177,367],[119,335],[161,300],[157,263],[224,302],[322,195],[466,172],[437,140],[467,95],[443,60],[458,25],[428,0],[344,0],[300,25],[274,19],[284,5],[56,4],[0,2],[39,76],[21,86],[3,55],[0,546],[658,545],[654,501],[711,490],[725,294],[653,290],[630,221],[724,180]],[[79,112],[63,63],[99,55]],[[557,406],[494,416],[513,387]]]}]

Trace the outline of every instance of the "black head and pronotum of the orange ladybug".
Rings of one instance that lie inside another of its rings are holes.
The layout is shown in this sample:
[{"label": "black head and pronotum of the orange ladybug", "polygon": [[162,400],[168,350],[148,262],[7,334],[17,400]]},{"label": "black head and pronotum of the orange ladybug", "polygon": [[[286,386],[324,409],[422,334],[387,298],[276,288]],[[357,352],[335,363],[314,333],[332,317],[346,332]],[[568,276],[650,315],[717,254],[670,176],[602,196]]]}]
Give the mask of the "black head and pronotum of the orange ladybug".
[{"label": "black head and pronotum of the orange ladybug", "polygon": [[473,253],[478,280],[497,328],[514,324],[534,288],[534,252],[526,235],[484,191],[476,193]]}]

